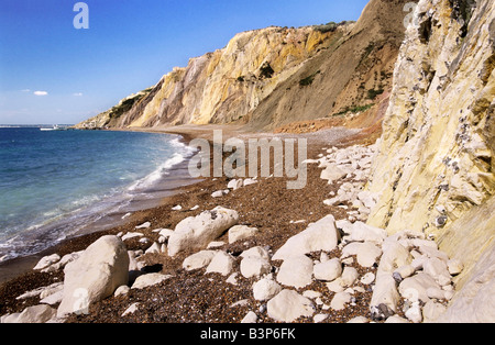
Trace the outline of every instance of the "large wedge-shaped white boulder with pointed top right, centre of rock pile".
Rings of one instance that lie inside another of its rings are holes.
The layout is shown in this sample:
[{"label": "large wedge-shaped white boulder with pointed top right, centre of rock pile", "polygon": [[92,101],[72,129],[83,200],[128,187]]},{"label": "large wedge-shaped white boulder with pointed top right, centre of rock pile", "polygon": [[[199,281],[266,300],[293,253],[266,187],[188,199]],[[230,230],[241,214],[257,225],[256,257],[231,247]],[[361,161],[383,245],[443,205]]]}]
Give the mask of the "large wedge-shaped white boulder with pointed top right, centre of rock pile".
[{"label": "large wedge-shaped white boulder with pointed top right, centre of rock pile", "polygon": [[333,251],[340,240],[336,227],[336,219],[329,214],[316,223],[310,224],[301,233],[290,237],[273,256],[274,260],[300,256],[311,252]]}]

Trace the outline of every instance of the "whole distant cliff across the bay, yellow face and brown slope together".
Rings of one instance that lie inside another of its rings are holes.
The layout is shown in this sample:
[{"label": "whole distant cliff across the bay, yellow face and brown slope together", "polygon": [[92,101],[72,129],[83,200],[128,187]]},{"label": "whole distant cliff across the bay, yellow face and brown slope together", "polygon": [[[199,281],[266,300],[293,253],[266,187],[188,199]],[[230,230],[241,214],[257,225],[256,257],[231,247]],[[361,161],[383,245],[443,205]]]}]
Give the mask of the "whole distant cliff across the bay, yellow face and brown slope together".
[{"label": "whole distant cliff across the bay, yellow face and brown slope together", "polygon": [[392,88],[406,0],[372,0],[356,23],[240,33],[79,127],[237,123],[273,130],[344,115]]}]

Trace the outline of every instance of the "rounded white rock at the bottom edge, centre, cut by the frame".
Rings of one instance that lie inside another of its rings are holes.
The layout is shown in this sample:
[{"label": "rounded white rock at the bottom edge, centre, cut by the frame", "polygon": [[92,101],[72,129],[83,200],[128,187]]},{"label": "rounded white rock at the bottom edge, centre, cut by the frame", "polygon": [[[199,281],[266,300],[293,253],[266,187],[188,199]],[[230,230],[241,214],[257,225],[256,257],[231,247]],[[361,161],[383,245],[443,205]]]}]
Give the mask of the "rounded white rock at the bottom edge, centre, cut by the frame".
[{"label": "rounded white rock at the bottom edge, centre, cut by the frame", "polygon": [[315,313],[315,307],[309,299],[287,289],[271,299],[266,308],[268,316],[279,322],[293,322]]}]

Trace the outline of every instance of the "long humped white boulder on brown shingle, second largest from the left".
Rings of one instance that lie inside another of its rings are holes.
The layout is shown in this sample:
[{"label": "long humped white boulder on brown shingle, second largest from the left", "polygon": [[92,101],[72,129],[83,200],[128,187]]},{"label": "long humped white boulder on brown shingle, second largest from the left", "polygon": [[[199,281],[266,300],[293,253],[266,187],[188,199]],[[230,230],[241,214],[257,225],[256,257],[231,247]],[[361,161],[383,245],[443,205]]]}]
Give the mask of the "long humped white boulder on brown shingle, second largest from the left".
[{"label": "long humped white boulder on brown shingle, second largest from the left", "polygon": [[186,218],[177,224],[168,238],[168,255],[175,256],[184,249],[205,248],[211,241],[235,225],[238,220],[238,212],[222,207]]}]

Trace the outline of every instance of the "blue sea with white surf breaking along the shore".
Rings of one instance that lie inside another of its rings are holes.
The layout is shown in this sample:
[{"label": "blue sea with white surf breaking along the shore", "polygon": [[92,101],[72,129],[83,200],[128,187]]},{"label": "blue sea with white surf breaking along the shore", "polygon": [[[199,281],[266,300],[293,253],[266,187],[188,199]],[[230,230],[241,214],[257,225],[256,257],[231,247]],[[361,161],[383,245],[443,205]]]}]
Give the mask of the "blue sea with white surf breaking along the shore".
[{"label": "blue sea with white surf breaking along the shore", "polygon": [[193,154],[168,134],[0,127],[0,261],[156,204]]}]

